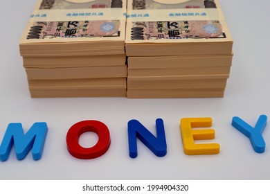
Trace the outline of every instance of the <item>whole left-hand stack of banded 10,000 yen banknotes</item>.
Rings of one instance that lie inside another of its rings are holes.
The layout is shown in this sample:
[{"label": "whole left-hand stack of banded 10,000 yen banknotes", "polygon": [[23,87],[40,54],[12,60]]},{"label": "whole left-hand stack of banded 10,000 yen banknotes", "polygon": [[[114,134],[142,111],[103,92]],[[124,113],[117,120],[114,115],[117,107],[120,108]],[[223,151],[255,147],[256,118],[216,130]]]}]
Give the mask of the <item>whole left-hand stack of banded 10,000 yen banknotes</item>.
[{"label": "whole left-hand stack of banded 10,000 yen banknotes", "polygon": [[126,96],[122,0],[38,0],[21,38],[30,94]]}]

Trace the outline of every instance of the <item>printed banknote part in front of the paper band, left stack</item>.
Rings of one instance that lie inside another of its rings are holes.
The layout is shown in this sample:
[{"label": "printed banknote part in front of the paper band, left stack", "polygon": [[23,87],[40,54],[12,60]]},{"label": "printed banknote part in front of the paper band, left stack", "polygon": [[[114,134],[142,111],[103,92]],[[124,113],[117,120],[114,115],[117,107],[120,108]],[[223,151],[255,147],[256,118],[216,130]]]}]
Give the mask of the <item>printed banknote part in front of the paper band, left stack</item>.
[{"label": "printed banknote part in front of the paper band, left stack", "polygon": [[119,20],[35,22],[26,39],[118,37],[119,27]]}]

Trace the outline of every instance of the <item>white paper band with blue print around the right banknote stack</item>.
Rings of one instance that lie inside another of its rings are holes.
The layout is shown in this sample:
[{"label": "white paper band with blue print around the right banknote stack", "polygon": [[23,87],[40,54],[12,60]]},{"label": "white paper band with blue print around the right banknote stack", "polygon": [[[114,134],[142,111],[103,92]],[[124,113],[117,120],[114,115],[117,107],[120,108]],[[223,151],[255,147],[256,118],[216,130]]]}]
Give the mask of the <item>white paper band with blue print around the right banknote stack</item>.
[{"label": "white paper band with blue print around the right banknote stack", "polygon": [[127,21],[183,21],[183,20],[219,20],[224,21],[220,8],[211,9],[162,9],[131,10],[127,12]]}]

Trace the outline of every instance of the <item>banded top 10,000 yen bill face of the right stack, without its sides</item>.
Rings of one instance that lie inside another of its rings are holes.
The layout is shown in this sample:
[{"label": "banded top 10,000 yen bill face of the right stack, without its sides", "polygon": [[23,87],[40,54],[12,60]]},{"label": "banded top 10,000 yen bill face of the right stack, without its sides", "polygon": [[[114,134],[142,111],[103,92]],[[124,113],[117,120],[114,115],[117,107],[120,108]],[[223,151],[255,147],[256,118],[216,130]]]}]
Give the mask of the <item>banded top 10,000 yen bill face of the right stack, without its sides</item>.
[{"label": "banded top 10,000 yen bill face of the right stack, without its sides", "polygon": [[126,43],[223,42],[218,0],[129,0]]}]

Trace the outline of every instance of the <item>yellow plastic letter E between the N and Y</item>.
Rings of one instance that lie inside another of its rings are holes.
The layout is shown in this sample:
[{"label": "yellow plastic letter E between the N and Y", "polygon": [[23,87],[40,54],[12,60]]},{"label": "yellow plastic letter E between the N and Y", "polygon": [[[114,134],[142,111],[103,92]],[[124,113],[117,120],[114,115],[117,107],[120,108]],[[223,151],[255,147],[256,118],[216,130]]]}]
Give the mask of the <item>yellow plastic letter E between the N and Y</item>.
[{"label": "yellow plastic letter E between the N and Y", "polygon": [[195,140],[215,139],[215,130],[192,130],[192,127],[211,127],[212,118],[182,118],[181,136],[183,151],[186,155],[216,155],[219,153],[218,143],[195,144]]}]

